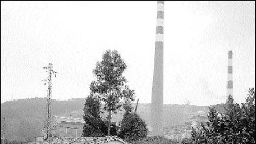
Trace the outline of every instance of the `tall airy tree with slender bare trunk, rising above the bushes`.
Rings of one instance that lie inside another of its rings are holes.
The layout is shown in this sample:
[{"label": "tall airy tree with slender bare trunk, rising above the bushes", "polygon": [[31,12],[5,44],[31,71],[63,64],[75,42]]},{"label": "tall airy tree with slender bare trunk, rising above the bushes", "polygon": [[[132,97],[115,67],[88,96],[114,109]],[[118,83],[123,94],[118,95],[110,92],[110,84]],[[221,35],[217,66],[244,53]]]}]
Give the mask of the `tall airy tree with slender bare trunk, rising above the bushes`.
[{"label": "tall airy tree with slender bare trunk, rising above the bushes", "polygon": [[109,112],[109,136],[111,112],[116,113],[120,109],[121,99],[132,99],[133,96],[133,90],[125,86],[127,80],[122,75],[126,67],[118,51],[107,50],[102,56],[102,61],[97,62],[93,70],[97,80],[91,83],[91,92],[104,102],[104,110]]}]

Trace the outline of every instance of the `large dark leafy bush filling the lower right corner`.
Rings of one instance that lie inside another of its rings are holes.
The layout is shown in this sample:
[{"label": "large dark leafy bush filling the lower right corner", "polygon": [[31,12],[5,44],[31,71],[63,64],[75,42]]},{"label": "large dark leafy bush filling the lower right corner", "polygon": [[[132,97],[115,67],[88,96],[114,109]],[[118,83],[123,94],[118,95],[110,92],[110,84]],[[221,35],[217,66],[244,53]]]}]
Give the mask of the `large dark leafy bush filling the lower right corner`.
[{"label": "large dark leafy bush filling the lower right corner", "polygon": [[229,97],[226,112],[210,108],[203,130],[192,131],[195,144],[255,144],[255,91],[249,89],[246,103],[234,104]]}]

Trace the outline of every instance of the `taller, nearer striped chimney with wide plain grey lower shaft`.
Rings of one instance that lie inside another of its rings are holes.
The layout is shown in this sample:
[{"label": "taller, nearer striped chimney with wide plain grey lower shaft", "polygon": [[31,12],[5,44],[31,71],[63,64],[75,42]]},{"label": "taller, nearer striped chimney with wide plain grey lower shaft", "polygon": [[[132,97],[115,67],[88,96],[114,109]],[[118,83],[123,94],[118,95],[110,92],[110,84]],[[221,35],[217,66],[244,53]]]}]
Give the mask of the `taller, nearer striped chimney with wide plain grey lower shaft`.
[{"label": "taller, nearer striped chimney with wide plain grey lower shaft", "polygon": [[157,1],[157,28],[151,98],[151,122],[153,136],[161,136],[163,134],[163,15],[164,1]]}]

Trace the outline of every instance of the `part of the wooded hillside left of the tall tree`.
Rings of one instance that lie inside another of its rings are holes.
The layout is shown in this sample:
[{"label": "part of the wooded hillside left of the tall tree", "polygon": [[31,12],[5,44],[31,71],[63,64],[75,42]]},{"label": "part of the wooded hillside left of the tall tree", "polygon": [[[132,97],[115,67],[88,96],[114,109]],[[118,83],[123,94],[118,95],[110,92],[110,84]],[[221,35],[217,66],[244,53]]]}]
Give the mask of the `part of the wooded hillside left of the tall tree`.
[{"label": "part of the wooded hillside left of the tall tree", "polygon": [[[52,100],[52,116],[72,113],[82,109],[85,99],[73,99],[71,101]],[[5,137],[11,140],[33,140],[40,134],[45,122],[46,101],[43,98],[18,99],[16,101],[1,104],[1,129],[3,117],[6,118]],[[77,117],[77,115],[74,115]]]}]

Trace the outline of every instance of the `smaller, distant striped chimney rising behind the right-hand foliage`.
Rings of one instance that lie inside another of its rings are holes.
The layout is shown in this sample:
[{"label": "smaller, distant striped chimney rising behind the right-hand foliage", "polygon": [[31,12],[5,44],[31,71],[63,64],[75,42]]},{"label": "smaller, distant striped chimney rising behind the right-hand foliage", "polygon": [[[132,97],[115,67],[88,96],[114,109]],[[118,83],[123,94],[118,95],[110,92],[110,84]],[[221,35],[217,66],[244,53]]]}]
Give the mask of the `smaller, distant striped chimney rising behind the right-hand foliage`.
[{"label": "smaller, distant striped chimney rising behind the right-hand foliage", "polygon": [[228,51],[227,64],[227,100],[229,95],[233,98],[233,67],[232,67],[232,51]]}]

